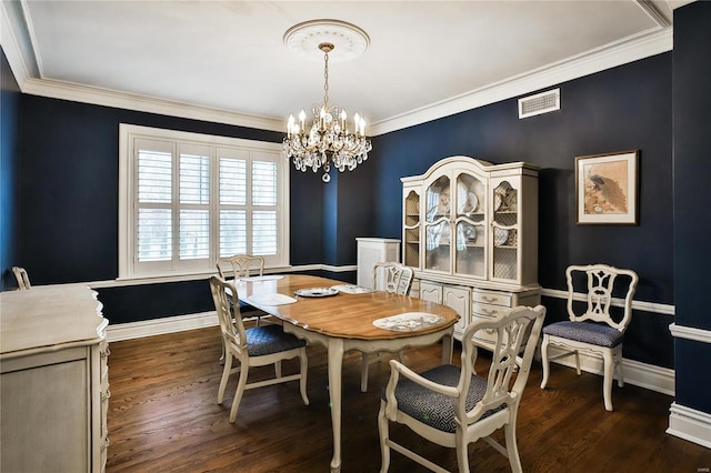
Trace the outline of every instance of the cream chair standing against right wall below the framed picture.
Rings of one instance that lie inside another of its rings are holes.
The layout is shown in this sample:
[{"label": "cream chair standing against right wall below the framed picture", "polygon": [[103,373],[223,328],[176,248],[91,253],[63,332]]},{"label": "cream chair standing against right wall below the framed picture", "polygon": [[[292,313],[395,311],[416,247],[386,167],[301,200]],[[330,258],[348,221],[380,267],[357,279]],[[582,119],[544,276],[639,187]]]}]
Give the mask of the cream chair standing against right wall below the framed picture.
[{"label": "cream chair standing against right wall below the framed picture", "polygon": [[[615,371],[618,385],[624,385],[622,341],[632,320],[632,298],[639,278],[632,270],[607,264],[589,264],[568,266],[565,280],[569,320],[551,323],[543,329],[541,389],[548,384],[550,361],[572,354],[575,356],[575,370],[580,375],[580,352],[589,353],[602,358],[604,409],[612,411],[612,379]],[[624,294],[621,308],[613,305],[615,294]],[[562,352],[551,356],[550,346]]]}]

